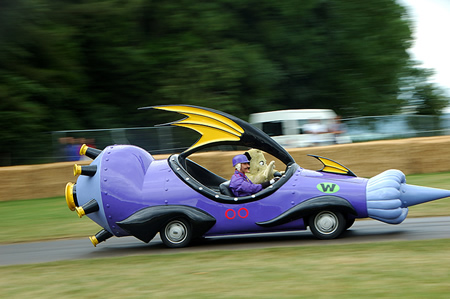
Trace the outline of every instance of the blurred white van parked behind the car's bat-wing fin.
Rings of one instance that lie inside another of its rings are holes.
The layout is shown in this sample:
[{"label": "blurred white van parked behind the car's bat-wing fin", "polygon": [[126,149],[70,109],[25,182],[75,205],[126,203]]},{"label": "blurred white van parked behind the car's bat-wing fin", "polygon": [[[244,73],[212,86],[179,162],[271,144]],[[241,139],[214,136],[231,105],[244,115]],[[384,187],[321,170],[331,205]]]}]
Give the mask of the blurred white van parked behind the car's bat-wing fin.
[{"label": "blurred white van parked behind the car's bat-wing fin", "polygon": [[[337,115],[331,109],[293,109],[250,114],[249,122],[285,148],[349,143],[351,139],[330,133]],[[311,134],[320,131],[320,134]]]}]

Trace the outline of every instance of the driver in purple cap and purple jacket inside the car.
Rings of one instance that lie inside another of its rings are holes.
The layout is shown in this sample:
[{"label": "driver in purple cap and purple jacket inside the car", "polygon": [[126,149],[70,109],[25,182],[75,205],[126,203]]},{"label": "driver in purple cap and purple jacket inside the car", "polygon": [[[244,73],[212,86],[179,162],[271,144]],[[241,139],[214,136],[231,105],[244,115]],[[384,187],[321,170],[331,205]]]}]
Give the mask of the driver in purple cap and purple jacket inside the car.
[{"label": "driver in purple cap and purple jacket inside the car", "polygon": [[233,158],[233,166],[235,171],[230,180],[230,189],[234,196],[252,195],[276,182],[275,179],[271,179],[261,184],[253,184],[245,175],[250,172],[250,161],[245,155],[235,156]]}]

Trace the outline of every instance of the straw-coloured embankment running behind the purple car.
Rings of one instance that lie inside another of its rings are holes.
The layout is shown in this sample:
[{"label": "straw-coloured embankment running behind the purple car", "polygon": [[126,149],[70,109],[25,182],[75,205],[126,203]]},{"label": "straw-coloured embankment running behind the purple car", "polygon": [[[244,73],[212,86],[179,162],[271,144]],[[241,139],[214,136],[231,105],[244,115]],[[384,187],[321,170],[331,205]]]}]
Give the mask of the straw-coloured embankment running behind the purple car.
[{"label": "straw-coloured embankment running behind the purple car", "polygon": [[[324,147],[290,149],[303,168],[317,170],[320,162],[308,154],[324,156],[351,169],[360,177],[371,177],[395,168],[405,174],[450,171],[450,136],[372,141]],[[231,177],[231,159],[236,152],[207,152],[190,158],[225,178]],[[156,159],[167,155],[156,155]],[[272,157],[266,156],[268,162]],[[276,160],[275,160],[276,161]],[[0,201],[64,196],[67,182],[75,182],[73,165],[89,161],[0,167]],[[282,164],[276,161],[276,168]]]}]

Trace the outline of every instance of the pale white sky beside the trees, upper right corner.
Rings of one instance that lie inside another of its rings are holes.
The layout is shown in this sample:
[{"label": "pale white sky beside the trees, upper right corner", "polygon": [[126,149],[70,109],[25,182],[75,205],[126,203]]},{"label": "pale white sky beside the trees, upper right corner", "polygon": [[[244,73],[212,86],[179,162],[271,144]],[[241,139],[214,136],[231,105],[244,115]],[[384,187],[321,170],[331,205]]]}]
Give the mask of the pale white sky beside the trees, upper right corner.
[{"label": "pale white sky beside the trees, upper right corner", "polygon": [[435,71],[432,82],[450,96],[450,0],[397,0],[413,18],[415,42],[410,52]]}]

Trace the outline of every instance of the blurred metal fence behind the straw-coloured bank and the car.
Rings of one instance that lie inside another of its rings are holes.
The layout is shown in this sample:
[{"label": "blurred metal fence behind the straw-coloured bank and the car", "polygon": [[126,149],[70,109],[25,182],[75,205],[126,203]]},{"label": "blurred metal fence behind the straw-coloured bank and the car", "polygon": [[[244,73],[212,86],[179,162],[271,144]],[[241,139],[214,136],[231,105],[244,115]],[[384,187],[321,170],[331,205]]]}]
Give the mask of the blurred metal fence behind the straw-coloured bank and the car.
[{"label": "blurred metal fence behind the straw-coloured bank and the car", "polygon": [[[352,142],[411,137],[450,135],[450,115],[385,115],[344,119],[347,135]],[[111,144],[132,144],[152,154],[179,153],[200,136],[180,127],[139,127],[100,130],[53,131],[53,160],[76,161],[81,144],[99,149]],[[235,150],[236,147],[220,147]]]}]

